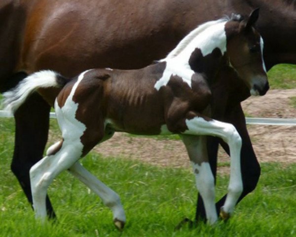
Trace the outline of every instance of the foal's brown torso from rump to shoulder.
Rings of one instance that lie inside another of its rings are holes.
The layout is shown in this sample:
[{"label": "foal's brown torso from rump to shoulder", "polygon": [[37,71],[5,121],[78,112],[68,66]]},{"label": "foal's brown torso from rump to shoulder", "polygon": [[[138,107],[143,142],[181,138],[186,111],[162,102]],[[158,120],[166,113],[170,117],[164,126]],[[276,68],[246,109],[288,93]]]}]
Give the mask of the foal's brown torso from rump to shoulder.
[{"label": "foal's brown torso from rump to shoulder", "polygon": [[168,119],[177,120],[190,110],[202,112],[209,102],[202,100],[200,88],[207,84],[198,74],[192,77],[192,88],[172,72],[167,85],[155,89],[165,68],[166,62],[159,62],[139,70],[86,71],[66,84],[58,106],[67,106],[67,100],[78,104],[75,118],[86,127],[97,123],[100,129],[104,125],[114,131],[160,134]]}]

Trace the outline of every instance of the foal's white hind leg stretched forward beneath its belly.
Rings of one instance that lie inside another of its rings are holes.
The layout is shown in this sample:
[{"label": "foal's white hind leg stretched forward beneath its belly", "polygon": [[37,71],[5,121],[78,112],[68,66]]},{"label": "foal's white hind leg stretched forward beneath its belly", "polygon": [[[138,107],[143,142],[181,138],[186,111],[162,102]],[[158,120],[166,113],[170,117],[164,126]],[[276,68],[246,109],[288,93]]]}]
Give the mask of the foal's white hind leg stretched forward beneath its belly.
[{"label": "foal's white hind leg stretched forward beneath its belly", "polygon": [[125,213],[120,202],[120,197],[111,190],[108,186],[102,183],[88,170],[86,170],[77,161],[69,171],[77,177],[82,183],[89,187],[94,193],[96,193],[103,200],[104,204],[108,206],[113,213],[113,220],[117,219],[125,222]]}]

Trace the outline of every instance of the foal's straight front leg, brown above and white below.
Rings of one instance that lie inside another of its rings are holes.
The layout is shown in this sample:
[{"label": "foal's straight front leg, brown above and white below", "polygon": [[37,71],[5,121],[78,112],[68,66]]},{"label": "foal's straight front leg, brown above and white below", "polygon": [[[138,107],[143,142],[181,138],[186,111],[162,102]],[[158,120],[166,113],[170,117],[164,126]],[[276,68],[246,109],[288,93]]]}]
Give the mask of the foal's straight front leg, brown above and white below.
[{"label": "foal's straight front leg, brown above and white below", "polygon": [[207,141],[205,136],[181,135],[195,174],[196,188],[201,195],[209,224],[217,219],[215,206],[215,182],[208,162]]}]

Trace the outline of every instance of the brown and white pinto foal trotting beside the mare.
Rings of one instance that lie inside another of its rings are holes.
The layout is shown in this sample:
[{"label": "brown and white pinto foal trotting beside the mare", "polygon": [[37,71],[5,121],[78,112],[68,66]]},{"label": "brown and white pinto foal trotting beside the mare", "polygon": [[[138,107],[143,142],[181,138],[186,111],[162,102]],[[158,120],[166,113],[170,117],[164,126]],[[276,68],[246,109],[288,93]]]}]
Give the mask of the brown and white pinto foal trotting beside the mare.
[{"label": "brown and white pinto foal trotting beside the mare", "polygon": [[241,138],[233,125],[211,119],[206,111],[215,75],[227,65],[253,94],[264,94],[268,89],[263,41],[252,27],[257,18],[255,10],[246,20],[234,15],[230,20],[207,22],[189,33],[165,59],[140,70],[92,69],[71,80],[41,71],[4,93],[6,109],[14,112],[35,90],[41,95],[47,88],[61,90],[55,111],[63,139],[30,170],[37,218],[46,218],[48,186],[61,171],[69,169],[103,199],[111,208],[115,225],[123,228],[126,217],[119,196],[78,162],[115,131],[180,134],[210,224],[218,216],[205,136],[221,137],[231,154],[228,194],[221,210],[222,218],[228,217],[242,192]]}]

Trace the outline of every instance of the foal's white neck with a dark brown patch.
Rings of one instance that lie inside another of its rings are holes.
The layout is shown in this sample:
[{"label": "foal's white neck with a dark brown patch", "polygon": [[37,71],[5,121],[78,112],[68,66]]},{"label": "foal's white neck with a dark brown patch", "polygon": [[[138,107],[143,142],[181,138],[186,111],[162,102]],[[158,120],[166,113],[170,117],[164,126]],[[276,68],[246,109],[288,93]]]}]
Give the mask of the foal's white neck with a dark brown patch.
[{"label": "foal's white neck with a dark brown patch", "polygon": [[[219,68],[227,64],[226,20],[206,23],[189,33],[165,60],[174,60],[180,67],[194,73],[203,74],[209,83],[215,78]],[[179,67],[179,66],[178,66]]]}]

